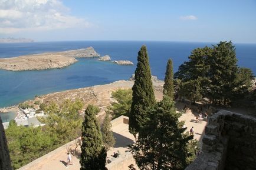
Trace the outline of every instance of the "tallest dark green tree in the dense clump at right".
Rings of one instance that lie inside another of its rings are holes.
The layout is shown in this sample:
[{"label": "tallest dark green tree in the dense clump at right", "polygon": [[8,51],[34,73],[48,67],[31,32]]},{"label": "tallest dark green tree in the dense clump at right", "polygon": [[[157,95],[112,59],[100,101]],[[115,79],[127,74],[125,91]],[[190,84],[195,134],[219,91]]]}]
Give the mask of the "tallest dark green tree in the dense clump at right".
[{"label": "tallest dark green tree in the dense clump at right", "polygon": [[235,46],[231,41],[219,42],[214,45],[214,51],[209,58],[209,97],[214,103],[223,102],[224,105],[232,97],[235,88],[235,78],[238,71]]}]

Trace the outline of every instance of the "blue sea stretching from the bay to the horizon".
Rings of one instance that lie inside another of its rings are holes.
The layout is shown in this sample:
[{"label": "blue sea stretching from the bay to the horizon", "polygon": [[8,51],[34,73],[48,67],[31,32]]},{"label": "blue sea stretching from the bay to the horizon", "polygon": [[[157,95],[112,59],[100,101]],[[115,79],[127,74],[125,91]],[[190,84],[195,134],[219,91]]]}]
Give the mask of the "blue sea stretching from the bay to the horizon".
[{"label": "blue sea stretching from the bay to the horizon", "polygon": [[[195,48],[216,45],[213,42],[160,42],[160,41],[68,41],[0,44],[0,58],[67,51],[93,46],[101,56],[110,55],[111,60],[129,60],[134,65],[117,65],[97,61],[97,58],[78,58],[78,62],[61,69],[42,71],[6,71],[0,69],[0,108],[17,105],[35,95],[93,85],[109,84],[127,80],[134,74],[137,52],[147,46],[152,75],[165,78],[166,62],[173,61],[174,72]],[[238,66],[251,68],[256,75],[256,44],[234,44]],[[3,122],[15,117],[15,113],[0,114]]]}]

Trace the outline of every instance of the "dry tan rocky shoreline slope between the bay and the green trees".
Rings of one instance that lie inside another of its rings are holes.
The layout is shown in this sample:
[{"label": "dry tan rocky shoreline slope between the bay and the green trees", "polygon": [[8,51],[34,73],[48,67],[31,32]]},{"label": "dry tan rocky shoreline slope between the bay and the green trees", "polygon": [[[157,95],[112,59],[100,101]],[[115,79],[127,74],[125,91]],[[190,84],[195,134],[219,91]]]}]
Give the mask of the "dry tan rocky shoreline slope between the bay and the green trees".
[{"label": "dry tan rocky shoreline slope between the bay and the green trees", "polygon": [[[162,98],[162,91],[163,91],[163,81],[158,79],[152,79],[153,87],[155,90],[155,95],[157,99]],[[39,109],[39,105],[41,103],[49,104],[50,102],[54,101],[57,104],[61,104],[65,99],[81,99],[84,102],[83,110],[86,109],[87,105],[93,104],[99,106],[101,111],[113,102],[113,98],[111,98],[111,92],[116,91],[117,89],[129,89],[132,88],[134,84],[133,80],[119,80],[111,82],[110,84],[103,84],[103,85],[94,85],[88,86],[84,88],[77,88],[77,89],[69,89],[65,91],[58,91],[52,92],[50,94],[45,94],[41,96],[37,96],[34,99],[29,99],[24,102],[27,102],[29,105],[34,105],[35,109]],[[35,105],[35,101],[40,101],[40,104]],[[22,102],[22,103],[24,103]],[[18,105],[14,106],[7,106],[4,108],[0,108],[1,112],[18,112],[19,108]]]}]

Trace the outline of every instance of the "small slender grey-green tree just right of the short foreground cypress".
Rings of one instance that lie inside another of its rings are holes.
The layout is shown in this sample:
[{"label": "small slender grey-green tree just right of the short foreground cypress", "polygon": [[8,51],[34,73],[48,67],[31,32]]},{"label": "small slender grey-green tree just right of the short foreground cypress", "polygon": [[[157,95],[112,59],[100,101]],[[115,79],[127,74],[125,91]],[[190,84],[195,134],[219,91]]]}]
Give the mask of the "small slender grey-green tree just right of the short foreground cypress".
[{"label": "small slender grey-green tree just right of the short foreground cypress", "polygon": [[116,141],[114,140],[113,132],[111,131],[111,127],[112,125],[110,122],[110,117],[109,114],[107,114],[101,126],[103,144],[105,145],[107,151],[109,151],[109,149],[113,147],[116,143]]}]

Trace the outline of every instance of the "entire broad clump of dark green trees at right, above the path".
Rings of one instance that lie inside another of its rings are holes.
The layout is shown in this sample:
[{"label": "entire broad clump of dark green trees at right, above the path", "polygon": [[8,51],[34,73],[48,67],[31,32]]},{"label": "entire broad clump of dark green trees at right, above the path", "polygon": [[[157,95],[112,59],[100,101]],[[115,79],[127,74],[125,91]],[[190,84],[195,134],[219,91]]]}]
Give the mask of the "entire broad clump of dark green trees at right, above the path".
[{"label": "entire broad clump of dark green trees at right, above the path", "polygon": [[[248,93],[253,76],[251,69],[237,66],[235,46],[229,41],[194,49],[175,78],[181,81],[178,94],[191,102],[207,97],[213,104],[226,105]],[[195,95],[190,95],[192,89]]]}]

